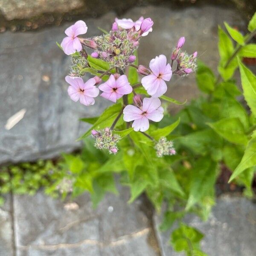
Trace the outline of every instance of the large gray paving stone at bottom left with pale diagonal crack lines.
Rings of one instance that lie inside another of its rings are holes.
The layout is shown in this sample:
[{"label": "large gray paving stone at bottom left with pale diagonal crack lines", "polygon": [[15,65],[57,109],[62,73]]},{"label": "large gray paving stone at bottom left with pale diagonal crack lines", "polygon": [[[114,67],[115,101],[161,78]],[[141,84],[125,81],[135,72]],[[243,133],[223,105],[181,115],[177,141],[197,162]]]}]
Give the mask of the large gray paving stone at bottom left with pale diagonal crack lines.
[{"label": "large gray paving stone at bottom left with pale diagonal crack lines", "polygon": [[[106,195],[97,209],[90,196],[66,202],[38,192],[14,196],[17,256],[159,256],[148,242],[152,230],[141,200],[127,204],[129,190]],[[111,209],[111,210],[110,210]]]}]

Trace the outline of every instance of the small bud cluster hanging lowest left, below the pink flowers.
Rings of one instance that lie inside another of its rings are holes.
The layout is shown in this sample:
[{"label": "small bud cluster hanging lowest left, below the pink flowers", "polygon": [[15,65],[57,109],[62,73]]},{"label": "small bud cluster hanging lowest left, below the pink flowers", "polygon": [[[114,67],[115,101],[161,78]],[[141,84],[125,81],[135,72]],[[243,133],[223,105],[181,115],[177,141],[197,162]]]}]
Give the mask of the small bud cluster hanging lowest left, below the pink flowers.
[{"label": "small bud cluster hanging lowest left, below the pink flowers", "polygon": [[116,154],[118,151],[117,143],[121,140],[118,134],[113,134],[110,128],[105,128],[102,132],[92,130],[92,137],[95,138],[94,146],[98,149],[108,149],[110,154]]}]

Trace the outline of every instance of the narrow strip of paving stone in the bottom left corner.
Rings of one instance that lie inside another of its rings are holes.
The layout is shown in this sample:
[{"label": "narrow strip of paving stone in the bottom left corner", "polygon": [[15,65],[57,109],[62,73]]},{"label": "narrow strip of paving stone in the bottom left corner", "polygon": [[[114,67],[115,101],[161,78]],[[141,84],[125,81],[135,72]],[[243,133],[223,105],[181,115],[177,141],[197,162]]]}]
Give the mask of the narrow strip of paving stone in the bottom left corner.
[{"label": "narrow strip of paving stone in the bottom left corner", "polygon": [[0,207],[0,255],[12,256],[13,251],[13,233],[12,233],[12,213],[11,213],[11,195],[5,195],[5,202]]}]

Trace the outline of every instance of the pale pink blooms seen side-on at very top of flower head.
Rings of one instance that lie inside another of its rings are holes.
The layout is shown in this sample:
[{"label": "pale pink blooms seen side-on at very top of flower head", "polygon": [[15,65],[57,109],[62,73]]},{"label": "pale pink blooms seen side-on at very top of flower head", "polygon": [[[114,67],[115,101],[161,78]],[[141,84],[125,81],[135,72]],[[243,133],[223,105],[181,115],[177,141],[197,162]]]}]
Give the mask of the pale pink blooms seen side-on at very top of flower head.
[{"label": "pale pink blooms seen side-on at very top of flower head", "polygon": [[148,35],[149,32],[152,32],[152,26],[154,22],[151,20],[151,18],[144,19],[143,16],[141,16],[138,20],[135,22],[132,19],[115,19],[117,25],[123,29],[134,29],[136,31],[140,31],[142,36]]}]

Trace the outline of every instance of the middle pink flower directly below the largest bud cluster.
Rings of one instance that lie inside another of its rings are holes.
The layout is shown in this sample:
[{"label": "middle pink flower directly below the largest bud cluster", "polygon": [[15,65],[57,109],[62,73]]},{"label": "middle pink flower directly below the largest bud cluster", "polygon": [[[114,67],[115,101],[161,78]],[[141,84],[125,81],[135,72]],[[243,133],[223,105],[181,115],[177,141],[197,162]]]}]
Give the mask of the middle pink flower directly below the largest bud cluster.
[{"label": "middle pink flower directly below the largest bud cluster", "polygon": [[132,87],[125,75],[119,76],[118,79],[110,75],[108,81],[101,84],[99,89],[103,92],[100,96],[113,102],[116,102],[116,100],[120,99],[124,94],[132,92]]}]

